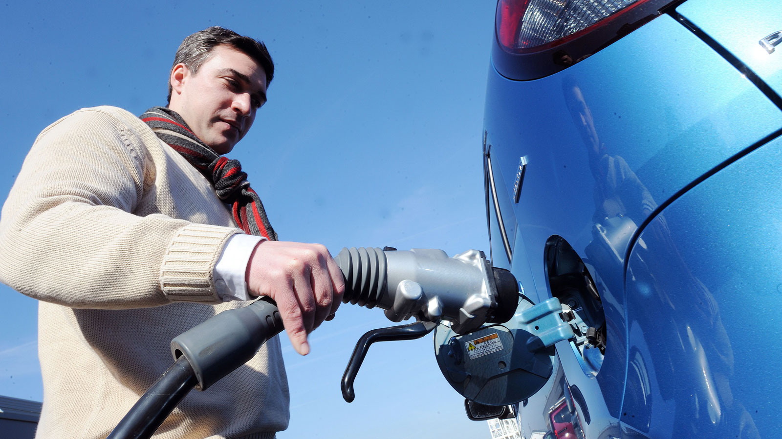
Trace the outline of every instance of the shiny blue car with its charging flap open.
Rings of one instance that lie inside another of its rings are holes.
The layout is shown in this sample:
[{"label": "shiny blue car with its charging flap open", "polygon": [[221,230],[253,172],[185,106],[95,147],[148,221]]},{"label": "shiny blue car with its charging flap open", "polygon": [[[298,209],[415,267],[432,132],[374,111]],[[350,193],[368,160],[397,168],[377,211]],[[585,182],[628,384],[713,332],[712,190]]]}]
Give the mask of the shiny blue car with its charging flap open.
[{"label": "shiny blue car with its charging flap open", "polygon": [[495,36],[491,259],[577,323],[522,437],[782,437],[782,2],[500,0]]}]

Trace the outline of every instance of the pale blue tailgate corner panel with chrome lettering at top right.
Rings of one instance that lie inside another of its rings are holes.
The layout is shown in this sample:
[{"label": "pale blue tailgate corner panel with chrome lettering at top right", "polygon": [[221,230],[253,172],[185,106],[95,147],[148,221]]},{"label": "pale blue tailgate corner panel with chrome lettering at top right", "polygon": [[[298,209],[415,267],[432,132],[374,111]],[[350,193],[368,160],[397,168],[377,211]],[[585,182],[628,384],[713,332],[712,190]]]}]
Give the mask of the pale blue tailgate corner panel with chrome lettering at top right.
[{"label": "pale blue tailgate corner panel with chrome lettering at top right", "polygon": [[782,31],[782,2],[689,0],[676,12],[712,37],[782,95],[782,44],[773,53],[759,41]]}]

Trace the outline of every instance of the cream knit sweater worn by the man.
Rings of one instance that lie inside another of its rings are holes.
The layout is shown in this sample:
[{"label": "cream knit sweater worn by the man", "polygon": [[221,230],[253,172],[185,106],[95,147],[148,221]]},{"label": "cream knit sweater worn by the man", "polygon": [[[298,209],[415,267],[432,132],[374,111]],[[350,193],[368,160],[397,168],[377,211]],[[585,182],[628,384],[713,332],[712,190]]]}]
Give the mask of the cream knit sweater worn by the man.
[{"label": "cream knit sweater worn by the man", "polygon": [[[243,305],[221,303],[212,279],[237,233],[211,184],[123,109],[82,109],[38,136],[0,217],[0,280],[41,301],[38,438],[106,437],[171,365],[173,337]],[[273,437],[288,405],[274,337],[155,437]]]}]

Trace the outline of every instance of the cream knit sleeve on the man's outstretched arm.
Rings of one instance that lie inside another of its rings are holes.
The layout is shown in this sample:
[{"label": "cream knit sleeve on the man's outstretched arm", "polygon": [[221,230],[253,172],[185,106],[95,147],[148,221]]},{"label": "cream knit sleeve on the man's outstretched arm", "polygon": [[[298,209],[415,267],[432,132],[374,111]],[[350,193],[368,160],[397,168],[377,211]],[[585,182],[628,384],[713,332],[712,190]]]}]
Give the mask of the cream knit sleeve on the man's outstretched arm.
[{"label": "cream knit sleeve on the man's outstretched arm", "polygon": [[135,211],[154,170],[138,135],[99,109],[42,132],[0,216],[0,280],[72,308],[220,302],[213,269],[240,230]]}]

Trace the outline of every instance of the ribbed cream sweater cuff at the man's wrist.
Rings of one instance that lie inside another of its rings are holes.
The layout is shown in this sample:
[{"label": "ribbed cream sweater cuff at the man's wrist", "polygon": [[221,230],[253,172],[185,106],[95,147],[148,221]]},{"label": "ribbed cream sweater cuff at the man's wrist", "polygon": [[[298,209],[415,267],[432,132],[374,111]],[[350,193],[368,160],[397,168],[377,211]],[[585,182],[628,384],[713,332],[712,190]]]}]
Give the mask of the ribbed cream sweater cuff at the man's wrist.
[{"label": "ribbed cream sweater cuff at the man's wrist", "polygon": [[242,233],[231,227],[188,224],[168,245],[160,268],[160,287],[172,302],[221,302],[213,269],[228,237]]}]

